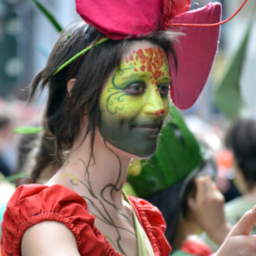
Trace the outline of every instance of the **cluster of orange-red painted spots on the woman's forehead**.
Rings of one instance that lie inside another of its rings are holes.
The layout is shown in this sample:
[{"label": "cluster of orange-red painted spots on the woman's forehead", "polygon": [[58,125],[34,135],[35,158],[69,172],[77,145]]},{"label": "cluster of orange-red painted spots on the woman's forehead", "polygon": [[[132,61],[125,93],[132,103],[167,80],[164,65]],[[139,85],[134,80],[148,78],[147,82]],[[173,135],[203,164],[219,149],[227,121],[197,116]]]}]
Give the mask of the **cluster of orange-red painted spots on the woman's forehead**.
[{"label": "cluster of orange-red painted spots on the woman's forehead", "polygon": [[166,74],[163,70],[167,70],[168,65],[165,52],[160,47],[133,51],[126,57],[126,62],[133,63],[135,72],[140,70],[151,73],[155,85],[158,83],[158,78]]}]

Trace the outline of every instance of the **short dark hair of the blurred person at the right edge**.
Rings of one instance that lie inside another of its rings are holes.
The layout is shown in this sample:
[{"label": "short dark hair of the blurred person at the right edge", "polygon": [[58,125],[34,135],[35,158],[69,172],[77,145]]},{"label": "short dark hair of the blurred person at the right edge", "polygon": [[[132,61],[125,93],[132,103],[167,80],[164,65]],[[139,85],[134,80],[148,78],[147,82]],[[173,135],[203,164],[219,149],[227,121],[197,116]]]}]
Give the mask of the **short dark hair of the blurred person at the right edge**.
[{"label": "short dark hair of the blurred person at the right edge", "polygon": [[256,184],[256,119],[239,119],[227,132],[225,143],[234,154],[249,189]]}]

